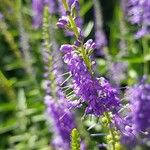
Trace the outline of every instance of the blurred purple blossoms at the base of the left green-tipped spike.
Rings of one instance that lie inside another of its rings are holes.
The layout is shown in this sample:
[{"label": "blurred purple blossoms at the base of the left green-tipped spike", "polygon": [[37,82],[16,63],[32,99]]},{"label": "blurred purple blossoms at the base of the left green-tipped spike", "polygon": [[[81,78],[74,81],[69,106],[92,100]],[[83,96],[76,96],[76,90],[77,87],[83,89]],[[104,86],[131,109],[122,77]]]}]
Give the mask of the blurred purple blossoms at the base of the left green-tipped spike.
[{"label": "blurred purple blossoms at the base of the left green-tipped spike", "polygon": [[[51,117],[53,122],[53,131],[57,137],[57,141],[54,138],[53,146],[55,149],[62,148],[63,150],[70,149],[70,134],[73,128],[75,128],[74,116],[67,108],[64,102],[55,102],[50,96],[45,97],[45,103],[47,105],[47,114]],[[59,139],[59,141],[58,141]]]}]

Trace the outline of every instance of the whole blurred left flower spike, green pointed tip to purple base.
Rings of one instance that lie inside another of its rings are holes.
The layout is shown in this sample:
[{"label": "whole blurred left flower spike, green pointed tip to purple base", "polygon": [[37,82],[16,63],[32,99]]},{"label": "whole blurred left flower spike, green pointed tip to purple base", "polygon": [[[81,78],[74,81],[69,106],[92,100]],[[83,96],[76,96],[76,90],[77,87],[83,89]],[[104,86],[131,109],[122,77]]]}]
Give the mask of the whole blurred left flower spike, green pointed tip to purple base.
[{"label": "whole blurred left flower spike, green pointed tip to purple base", "polygon": [[68,109],[68,103],[59,88],[58,64],[53,64],[52,51],[49,41],[49,14],[48,7],[44,9],[43,19],[43,48],[44,48],[44,61],[46,69],[46,95],[45,104],[47,106],[47,117],[53,123],[53,140],[52,146],[54,149],[70,150],[70,134],[75,128],[74,115]]}]

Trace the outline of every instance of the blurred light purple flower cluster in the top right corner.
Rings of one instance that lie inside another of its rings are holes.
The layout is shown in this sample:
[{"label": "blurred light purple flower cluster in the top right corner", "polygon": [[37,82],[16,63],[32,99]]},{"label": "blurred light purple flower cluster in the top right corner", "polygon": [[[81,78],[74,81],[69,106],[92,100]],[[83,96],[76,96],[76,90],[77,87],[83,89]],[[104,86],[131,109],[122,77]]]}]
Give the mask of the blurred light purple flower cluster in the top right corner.
[{"label": "blurred light purple flower cluster in the top right corner", "polygon": [[128,19],[132,24],[138,24],[141,28],[135,37],[140,38],[150,33],[150,1],[128,0]]}]

